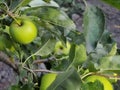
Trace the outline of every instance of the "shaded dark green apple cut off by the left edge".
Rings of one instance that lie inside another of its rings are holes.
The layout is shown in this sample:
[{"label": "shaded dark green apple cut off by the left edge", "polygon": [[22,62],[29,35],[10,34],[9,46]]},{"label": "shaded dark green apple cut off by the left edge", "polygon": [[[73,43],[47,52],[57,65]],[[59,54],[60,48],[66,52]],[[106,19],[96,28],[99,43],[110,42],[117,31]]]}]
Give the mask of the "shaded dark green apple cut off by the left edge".
[{"label": "shaded dark green apple cut off by the left edge", "polygon": [[0,50],[5,50],[5,49],[12,49],[12,42],[10,40],[10,37],[6,34],[0,35]]}]

